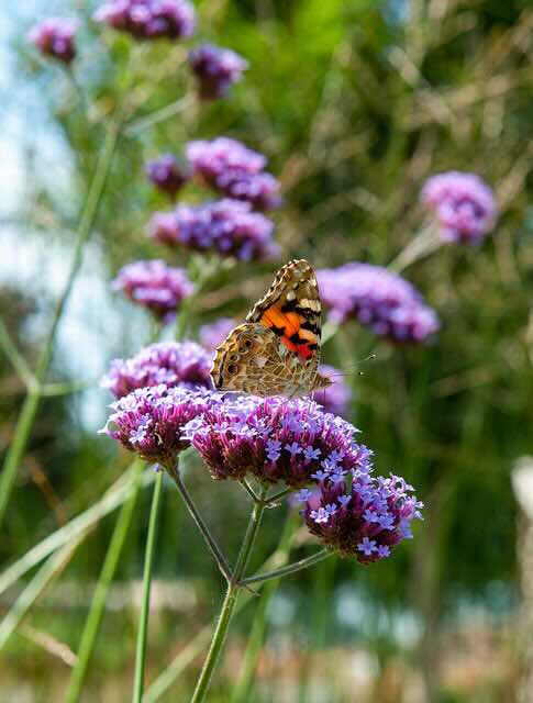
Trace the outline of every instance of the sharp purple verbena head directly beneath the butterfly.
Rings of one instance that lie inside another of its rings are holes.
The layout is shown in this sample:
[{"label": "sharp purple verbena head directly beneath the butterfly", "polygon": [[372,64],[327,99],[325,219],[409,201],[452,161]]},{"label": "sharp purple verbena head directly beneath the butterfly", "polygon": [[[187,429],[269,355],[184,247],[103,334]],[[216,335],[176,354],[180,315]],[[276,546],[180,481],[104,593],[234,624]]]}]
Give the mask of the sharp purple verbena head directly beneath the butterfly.
[{"label": "sharp purple verbena head directly beneath the butterfly", "polygon": [[301,488],[329,471],[368,470],[371,453],[355,442],[356,432],[310,400],[237,397],[208,408],[184,437],[214,479],[251,473]]}]

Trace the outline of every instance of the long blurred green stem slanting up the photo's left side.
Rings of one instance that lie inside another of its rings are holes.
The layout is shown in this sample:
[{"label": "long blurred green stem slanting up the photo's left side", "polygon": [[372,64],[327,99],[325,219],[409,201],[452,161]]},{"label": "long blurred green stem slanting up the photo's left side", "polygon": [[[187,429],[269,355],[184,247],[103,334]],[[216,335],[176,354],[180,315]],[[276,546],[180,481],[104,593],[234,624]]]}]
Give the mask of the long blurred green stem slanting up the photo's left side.
[{"label": "long blurred green stem slanting up the photo's left side", "polygon": [[[119,110],[119,114],[120,113],[121,110]],[[78,233],[67,281],[63,289],[63,293],[57,302],[48,334],[46,336],[46,341],[37,359],[37,365],[34,373],[36,387],[33,390],[30,390],[26,398],[24,399],[24,403],[22,405],[22,410],[14,429],[13,439],[3,462],[2,475],[0,477],[0,525],[3,521],[11,491],[13,490],[13,484],[16,478],[16,471],[24,456],[33,422],[37,414],[38,403],[41,400],[40,388],[46,378],[46,373],[51,365],[57,326],[62,319],[67,301],[70,297],[74,281],[76,280],[76,276],[78,275],[79,267],[81,265],[84,245],[89,238],[92,226],[95,224],[95,219],[97,216],[100,200],[106,186],[106,180],[111,167],[111,163],[113,160],[119,132],[120,116],[116,116],[107,133],[103,148],[100,152],[95,176],[92,178],[92,182],[90,185],[84,211],[79,221]]]}]

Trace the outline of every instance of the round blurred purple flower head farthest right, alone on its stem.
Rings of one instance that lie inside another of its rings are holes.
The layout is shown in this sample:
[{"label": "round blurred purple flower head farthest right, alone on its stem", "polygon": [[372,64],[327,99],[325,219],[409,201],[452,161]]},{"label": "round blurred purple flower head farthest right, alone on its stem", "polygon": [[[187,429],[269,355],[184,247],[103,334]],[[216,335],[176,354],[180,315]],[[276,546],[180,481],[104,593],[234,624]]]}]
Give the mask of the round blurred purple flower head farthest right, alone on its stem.
[{"label": "round blurred purple flower head farthest right, alone on its stem", "polygon": [[496,221],[492,189],[475,174],[447,171],[432,176],[421,198],[434,212],[445,242],[479,244]]}]

